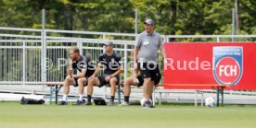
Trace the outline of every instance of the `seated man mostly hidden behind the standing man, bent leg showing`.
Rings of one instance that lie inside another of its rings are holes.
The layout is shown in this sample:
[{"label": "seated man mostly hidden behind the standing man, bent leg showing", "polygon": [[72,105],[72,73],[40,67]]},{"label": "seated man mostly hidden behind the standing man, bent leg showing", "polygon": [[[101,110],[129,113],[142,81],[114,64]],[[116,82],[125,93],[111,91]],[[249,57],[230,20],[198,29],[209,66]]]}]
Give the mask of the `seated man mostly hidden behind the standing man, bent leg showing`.
[{"label": "seated man mostly hidden behind the standing man, bent leg showing", "polygon": [[[157,67],[157,72],[154,81],[154,85],[158,85],[160,83],[160,70]],[[138,70],[134,70],[133,76],[128,77],[124,83],[123,83],[123,95],[124,95],[124,101],[122,102],[122,106],[129,105],[129,97],[131,94],[131,86],[134,87],[142,87],[144,83],[143,76],[138,76]],[[153,90],[152,90],[153,91]]]}]

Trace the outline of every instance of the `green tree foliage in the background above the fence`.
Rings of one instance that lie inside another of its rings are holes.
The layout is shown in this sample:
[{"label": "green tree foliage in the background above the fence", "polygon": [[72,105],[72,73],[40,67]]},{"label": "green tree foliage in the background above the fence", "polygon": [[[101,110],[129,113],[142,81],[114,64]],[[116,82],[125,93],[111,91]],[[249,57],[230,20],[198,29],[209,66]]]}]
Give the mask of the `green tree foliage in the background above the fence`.
[{"label": "green tree foliage in the background above the fence", "polygon": [[[231,34],[235,0],[0,0],[0,26],[134,33],[134,10],[161,34]],[[256,1],[238,1],[237,34],[256,34]]]}]

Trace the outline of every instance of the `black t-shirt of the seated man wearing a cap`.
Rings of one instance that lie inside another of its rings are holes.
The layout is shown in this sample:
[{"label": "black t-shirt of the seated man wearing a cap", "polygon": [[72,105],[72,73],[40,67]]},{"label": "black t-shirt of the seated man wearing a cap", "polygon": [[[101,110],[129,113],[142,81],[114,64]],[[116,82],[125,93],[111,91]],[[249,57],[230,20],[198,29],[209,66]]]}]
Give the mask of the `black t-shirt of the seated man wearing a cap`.
[{"label": "black t-shirt of the seated man wearing a cap", "polygon": [[97,64],[102,64],[104,66],[104,75],[109,76],[118,71],[120,65],[122,64],[121,59],[121,55],[119,55],[117,52],[113,52],[110,56],[104,52],[98,57]]}]

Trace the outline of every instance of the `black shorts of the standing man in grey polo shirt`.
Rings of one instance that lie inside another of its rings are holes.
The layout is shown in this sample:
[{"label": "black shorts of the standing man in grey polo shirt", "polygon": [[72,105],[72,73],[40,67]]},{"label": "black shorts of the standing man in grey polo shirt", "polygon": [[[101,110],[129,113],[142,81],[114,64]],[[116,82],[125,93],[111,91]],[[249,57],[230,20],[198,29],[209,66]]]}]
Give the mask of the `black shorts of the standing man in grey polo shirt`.
[{"label": "black shorts of the standing man in grey polo shirt", "polygon": [[160,69],[158,64],[138,63],[142,78],[151,78],[151,81],[158,80],[160,77]]}]

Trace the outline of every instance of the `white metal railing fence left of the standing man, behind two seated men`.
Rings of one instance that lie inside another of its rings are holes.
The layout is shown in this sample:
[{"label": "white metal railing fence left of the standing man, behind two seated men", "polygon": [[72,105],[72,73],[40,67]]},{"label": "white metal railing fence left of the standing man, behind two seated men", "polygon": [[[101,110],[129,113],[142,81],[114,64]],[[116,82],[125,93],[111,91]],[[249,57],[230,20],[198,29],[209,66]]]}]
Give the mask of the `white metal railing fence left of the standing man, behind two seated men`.
[{"label": "white metal railing fence left of the standing man, behind two seated men", "polygon": [[[3,29],[3,28],[1,28]],[[38,29],[8,29],[30,30]],[[45,30],[43,36],[0,34],[0,84],[33,84],[41,81],[63,81],[66,74],[64,66],[58,67],[58,60],[68,58],[71,46],[78,46],[82,54],[89,55],[96,61],[103,52],[102,43],[106,36],[134,36],[133,34],[83,32],[79,34],[102,34],[102,39],[87,39],[77,37],[46,36],[47,32],[65,32],[77,34],[78,31]],[[44,40],[45,39],[45,40]],[[134,41],[109,40],[115,42],[115,51],[125,60],[131,60]],[[45,61],[52,61],[52,68],[46,69]],[[128,73],[127,64],[124,64],[124,74]]]}]

